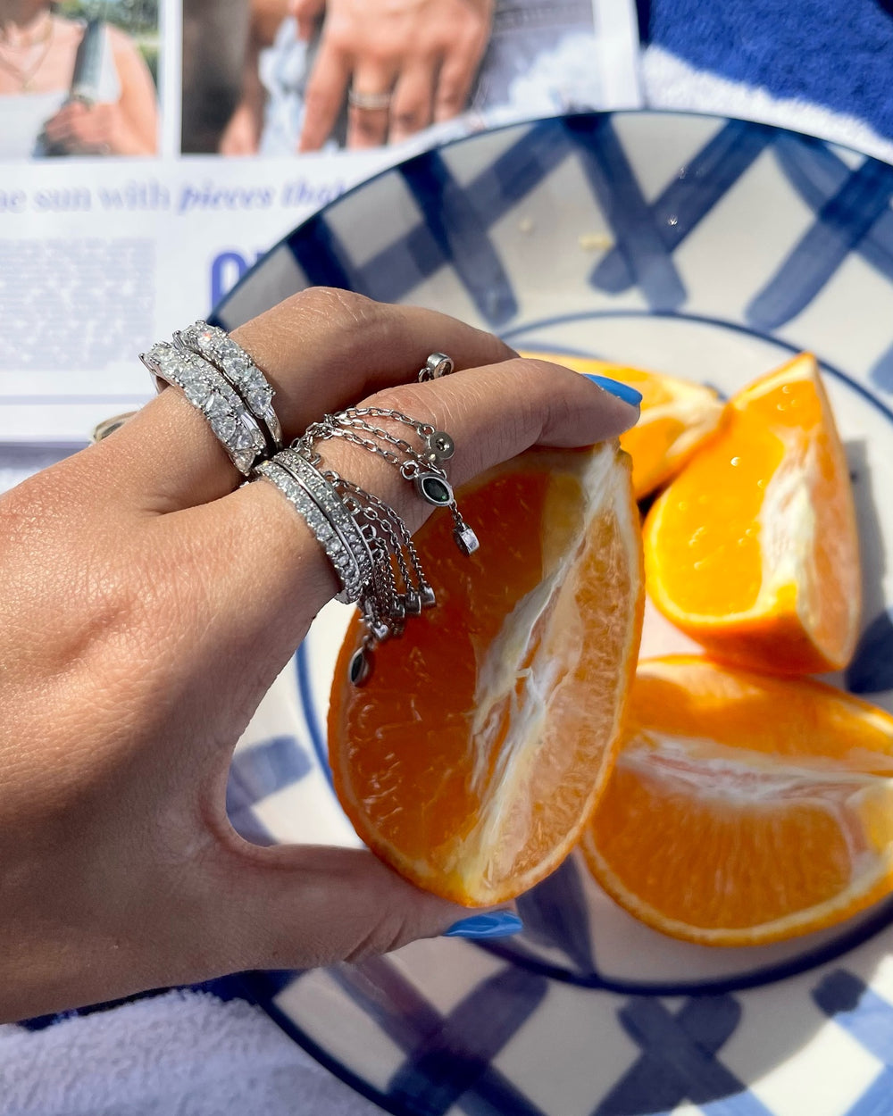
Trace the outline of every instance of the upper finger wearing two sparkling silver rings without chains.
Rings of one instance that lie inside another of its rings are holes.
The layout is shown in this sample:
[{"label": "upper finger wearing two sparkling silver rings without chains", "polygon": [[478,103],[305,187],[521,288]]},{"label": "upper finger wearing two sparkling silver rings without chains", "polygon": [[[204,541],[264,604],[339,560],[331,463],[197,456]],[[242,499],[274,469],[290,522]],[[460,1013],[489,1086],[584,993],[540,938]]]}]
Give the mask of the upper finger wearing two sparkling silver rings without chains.
[{"label": "upper finger wearing two sparkling silver rings without chains", "polygon": [[[387,306],[333,288],[301,291],[233,331],[276,391],[286,442],[315,419],[369,392],[416,377],[432,352],[457,368],[505,360],[513,352],[492,334],[435,310]],[[165,512],[231,492],[240,475],[204,417],[167,388],[104,442],[93,446],[104,492],[129,507]],[[74,460],[74,459],[71,459]]]}]

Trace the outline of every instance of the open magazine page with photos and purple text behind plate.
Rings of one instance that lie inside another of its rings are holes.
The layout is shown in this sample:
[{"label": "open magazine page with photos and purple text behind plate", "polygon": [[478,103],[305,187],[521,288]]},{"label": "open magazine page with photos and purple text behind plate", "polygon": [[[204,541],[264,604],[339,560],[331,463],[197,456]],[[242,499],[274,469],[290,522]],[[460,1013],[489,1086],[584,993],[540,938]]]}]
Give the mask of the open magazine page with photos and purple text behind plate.
[{"label": "open magazine page with photos and purple text behind plate", "polygon": [[136,355],[316,209],[636,107],[637,48],[627,0],[0,0],[0,489],[145,402]]}]

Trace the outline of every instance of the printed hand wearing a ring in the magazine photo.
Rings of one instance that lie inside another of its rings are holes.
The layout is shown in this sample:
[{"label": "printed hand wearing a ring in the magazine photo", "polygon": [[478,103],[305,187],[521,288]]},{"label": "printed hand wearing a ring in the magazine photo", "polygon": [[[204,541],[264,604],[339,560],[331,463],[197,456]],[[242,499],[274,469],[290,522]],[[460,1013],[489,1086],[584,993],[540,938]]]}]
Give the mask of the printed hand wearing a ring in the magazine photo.
[{"label": "printed hand wearing a ring in the magazine photo", "polygon": [[[493,0],[328,0],[305,99],[300,151],[328,138],[348,86],[347,146],[397,143],[465,107]],[[362,98],[390,97],[387,107]]]}]

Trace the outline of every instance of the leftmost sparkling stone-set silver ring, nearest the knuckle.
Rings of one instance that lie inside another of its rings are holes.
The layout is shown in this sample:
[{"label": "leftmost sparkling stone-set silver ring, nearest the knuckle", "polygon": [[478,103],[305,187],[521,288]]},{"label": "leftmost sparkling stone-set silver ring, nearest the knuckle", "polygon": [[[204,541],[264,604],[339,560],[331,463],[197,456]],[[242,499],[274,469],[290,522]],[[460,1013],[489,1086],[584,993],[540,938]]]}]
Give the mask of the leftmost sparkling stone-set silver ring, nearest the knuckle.
[{"label": "leftmost sparkling stone-set silver ring, nearest the knuckle", "polygon": [[203,357],[181,353],[166,341],[141,353],[140,359],[155,377],[159,391],[173,384],[201,411],[232,463],[248,477],[266,454],[267,439],[232,385]]}]

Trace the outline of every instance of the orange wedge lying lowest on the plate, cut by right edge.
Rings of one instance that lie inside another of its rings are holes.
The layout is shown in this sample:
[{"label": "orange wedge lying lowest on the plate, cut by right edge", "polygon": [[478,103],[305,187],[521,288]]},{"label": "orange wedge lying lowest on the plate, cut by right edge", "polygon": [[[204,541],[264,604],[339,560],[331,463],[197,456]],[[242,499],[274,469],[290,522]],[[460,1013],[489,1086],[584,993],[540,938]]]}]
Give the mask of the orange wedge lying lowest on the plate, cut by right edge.
[{"label": "orange wedge lying lowest on the plate, cut by right edge", "polygon": [[673,937],[832,926],[893,888],[893,718],[812,680],[643,661],[583,853]]}]

